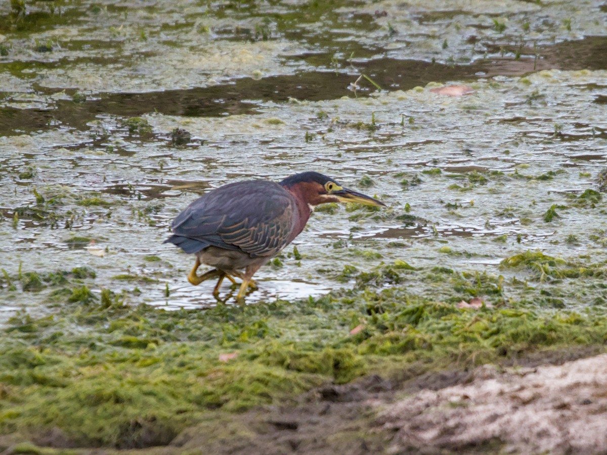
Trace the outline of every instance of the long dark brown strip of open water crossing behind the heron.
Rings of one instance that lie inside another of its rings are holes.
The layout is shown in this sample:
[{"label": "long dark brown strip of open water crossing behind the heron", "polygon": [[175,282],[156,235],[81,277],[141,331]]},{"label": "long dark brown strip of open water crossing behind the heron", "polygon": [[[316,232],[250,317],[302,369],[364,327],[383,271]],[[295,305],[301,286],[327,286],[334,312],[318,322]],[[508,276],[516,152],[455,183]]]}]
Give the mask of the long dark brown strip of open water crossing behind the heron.
[{"label": "long dark brown strip of open water crossing behind the heron", "polygon": [[[504,57],[482,59],[469,65],[446,65],[418,60],[378,58],[358,61],[347,71],[331,70],[270,76],[260,80],[237,79],[228,84],[186,90],[164,90],[144,93],[101,93],[98,99],[83,103],[59,99],[55,109],[17,109],[3,107],[0,112],[0,134],[13,135],[63,125],[87,130],[87,123],[98,115],[139,116],[158,112],[178,116],[223,116],[259,112],[257,101],[284,102],[290,98],[308,101],[335,99],[341,96],[364,96],[375,91],[362,82],[354,95],[348,89],[359,73],[369,75],[384,90],[409,90],[430,82],[471,81],[496,75],[524,75],[549,68],[577,70],[607,67],[607,37],[591,37],[539,47],[538,58]],[[294,56],[285,64],[315,55]],[[15,70],[22,64],[13,63]],[[37,87],[50,95],[58,89]],[[69,96],[77,92],[66,89]],[[597,103],[602,103],[602,95]],[[594,135],[602,132],[594,131]]]}]

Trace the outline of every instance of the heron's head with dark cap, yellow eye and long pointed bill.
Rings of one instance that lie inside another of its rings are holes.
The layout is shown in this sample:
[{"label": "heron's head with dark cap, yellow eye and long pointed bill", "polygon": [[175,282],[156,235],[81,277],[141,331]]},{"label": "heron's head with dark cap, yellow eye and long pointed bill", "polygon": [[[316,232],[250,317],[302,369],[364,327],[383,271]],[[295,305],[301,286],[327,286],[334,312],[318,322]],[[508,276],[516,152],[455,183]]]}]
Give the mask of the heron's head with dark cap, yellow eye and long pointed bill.
[{"label": "heron's head with dark cap, yellow eye and long pointed bill", "polygon": [[381,201],[344,188],[334,178],[318,172],[291,175],[281,181],[280,185],[312,207],[328,202],[356,202],[367,206],[385,207]]}]

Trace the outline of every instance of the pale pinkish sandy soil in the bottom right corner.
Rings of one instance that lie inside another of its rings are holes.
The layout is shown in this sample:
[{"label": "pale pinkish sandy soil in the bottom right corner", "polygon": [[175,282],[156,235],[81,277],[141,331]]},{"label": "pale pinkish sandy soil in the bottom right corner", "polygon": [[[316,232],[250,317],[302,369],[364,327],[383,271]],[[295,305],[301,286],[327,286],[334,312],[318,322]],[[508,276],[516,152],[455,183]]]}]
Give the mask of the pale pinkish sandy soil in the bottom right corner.
[{"label": "pale pinkish sandy soil in the bottom right corner", "polygon": [[506,453],[606,453],[607,355],[506,372],[483,366],[469,383],[422,390],[380,420],[398,431],[393,453],[492,441]]}]

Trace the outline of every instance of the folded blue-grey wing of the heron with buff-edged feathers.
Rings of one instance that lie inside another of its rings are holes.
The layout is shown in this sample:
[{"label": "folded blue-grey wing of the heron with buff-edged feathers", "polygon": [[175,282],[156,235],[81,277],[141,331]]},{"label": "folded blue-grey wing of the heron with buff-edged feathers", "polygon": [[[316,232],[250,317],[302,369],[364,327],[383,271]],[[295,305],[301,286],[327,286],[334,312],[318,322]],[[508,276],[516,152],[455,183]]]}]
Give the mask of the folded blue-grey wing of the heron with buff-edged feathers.
[{"label": "folded blue-grey wing of the heron with buff-edged feathers", "polygon": [[192,202],[173,221],[175,235],[251,255],[274,256],[287,245],[294,197],[268,181],[232,183]]}]

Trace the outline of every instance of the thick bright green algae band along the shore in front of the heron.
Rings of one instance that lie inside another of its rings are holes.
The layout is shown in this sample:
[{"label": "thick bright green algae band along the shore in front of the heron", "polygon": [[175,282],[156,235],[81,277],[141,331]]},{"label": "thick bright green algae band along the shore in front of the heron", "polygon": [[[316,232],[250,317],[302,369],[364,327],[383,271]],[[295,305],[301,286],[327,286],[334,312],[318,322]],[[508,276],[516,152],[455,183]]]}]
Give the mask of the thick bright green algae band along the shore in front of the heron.
[{"label": "thick bright green algae band along the shore in front of the heron", "polygon": [[[401,274],[415,273],[405,264]],[[501,292],[489,275],[433,273],[454,293]],[[410,294],[395,283],[398,276],[384,268],[359,274],[359,291],[206,311],[116,305],[108,290],[99,299],[86,286],[75,288],[52,318],[8,321],[11,340],[0,339],[0,431],[59,428],[84,447],[163,445],[214,409],[280,402],[326,382],[398,376],[407,364],[418,365],[415,375],[446,362],[467,368],[606,342],[603,311],[546,312],[522,303],[459,309]],[[397,286],[368,288],[386,280]],[[457,283],[469,283],[467,291]],[[361,322],[364,329],[350,335]],[[222,362],[222,352],[237,356]]]}]

